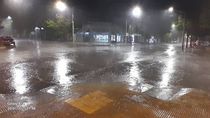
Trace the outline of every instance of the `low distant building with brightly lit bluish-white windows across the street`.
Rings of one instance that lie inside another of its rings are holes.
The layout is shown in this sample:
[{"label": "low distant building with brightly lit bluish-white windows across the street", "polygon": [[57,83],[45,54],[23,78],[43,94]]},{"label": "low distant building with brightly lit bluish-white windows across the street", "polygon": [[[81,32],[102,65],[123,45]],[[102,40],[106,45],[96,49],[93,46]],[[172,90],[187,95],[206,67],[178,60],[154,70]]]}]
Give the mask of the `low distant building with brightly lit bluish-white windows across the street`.
[{"label": "low distant building with brightly lit bluish-white windows across the street", "polygon": [[123,29],[112,23],[91,22],[83,25],[76,33],[76,41],[84,42],[124,42]]}]

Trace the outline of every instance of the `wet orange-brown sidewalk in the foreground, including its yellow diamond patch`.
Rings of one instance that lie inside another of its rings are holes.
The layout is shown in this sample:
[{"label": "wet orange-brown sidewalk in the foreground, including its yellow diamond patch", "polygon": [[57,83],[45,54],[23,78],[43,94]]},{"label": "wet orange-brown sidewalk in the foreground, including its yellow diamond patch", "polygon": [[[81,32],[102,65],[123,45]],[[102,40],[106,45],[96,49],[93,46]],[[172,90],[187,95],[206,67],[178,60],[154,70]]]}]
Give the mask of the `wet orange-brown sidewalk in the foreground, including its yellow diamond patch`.
[{"label": "wet orange-brown sidewalk in the foreground, including its yellow diamond patch", "polygon": [[[72,92],[67,93],[67,91]],[[139,93],[118,84],[89,84],[72,88],[49,87],[34,95],[1,95],[0,116],[1,118],[210,117],[209,94],[188,88],[166,88],[161,89],[161,92],[158,91],[156,88],[151,88]]]}]

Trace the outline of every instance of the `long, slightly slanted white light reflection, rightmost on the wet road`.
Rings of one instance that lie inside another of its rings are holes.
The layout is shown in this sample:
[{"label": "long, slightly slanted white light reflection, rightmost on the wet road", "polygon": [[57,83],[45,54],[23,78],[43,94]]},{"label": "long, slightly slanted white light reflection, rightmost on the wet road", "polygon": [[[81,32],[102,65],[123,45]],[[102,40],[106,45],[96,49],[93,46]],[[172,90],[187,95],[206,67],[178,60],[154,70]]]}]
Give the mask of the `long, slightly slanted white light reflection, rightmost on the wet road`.
[{"label": "long, slightly slanted white light reflection, rightmost on the wet road", "polygon": [[159,83],[160,88],[170,86],[172,79],[172,74],[175,72],[175,50],[173,45],[169,45],[167,51],[165,52],[168,55],[168,58],[164,61],[165,68],[162,71],[161,81]]}]

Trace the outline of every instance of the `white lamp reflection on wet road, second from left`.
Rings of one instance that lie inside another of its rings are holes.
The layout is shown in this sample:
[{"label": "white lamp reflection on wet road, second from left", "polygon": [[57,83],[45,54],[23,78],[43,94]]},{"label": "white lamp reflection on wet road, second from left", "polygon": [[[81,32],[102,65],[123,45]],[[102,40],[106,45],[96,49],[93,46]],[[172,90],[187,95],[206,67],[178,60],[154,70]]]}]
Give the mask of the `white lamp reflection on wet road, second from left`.
[{"label": "white lamp reflection on wet road, second from left", "polygon": [[71,84],[71,80],[74,78],[73,75],[67,75],[71,71],[71,68],[68,66],[70,62],[69,59],[63,56],[56,61],[56,80],[62,85]]}]

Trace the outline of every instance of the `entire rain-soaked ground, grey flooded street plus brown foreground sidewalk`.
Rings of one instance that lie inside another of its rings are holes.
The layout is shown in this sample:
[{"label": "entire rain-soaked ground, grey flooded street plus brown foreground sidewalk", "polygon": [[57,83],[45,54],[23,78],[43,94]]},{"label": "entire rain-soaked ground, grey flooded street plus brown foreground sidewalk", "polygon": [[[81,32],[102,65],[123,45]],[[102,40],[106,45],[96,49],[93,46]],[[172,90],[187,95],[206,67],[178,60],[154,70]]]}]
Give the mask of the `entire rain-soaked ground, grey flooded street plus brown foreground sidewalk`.
[{"label": "entire rain-soaked ground, grey flooded street plus brown foreground sidewalk", "polygon": [[16,42],[0,49],[0,118],[210,117],[208,50]]}]

